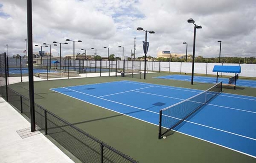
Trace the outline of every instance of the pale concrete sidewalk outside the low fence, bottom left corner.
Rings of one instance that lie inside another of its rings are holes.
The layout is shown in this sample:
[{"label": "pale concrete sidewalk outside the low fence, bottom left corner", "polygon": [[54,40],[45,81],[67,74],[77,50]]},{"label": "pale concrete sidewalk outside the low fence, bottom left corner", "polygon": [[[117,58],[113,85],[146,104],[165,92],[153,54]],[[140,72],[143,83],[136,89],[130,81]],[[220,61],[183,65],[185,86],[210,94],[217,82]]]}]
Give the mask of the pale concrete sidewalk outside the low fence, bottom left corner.
[{"label": "pale concrete sidewalk outside the low fence, bottom left corner", "polygon": [[40,131],[30,132],[30,123],[0,97],[1,163],[73,163]]}]

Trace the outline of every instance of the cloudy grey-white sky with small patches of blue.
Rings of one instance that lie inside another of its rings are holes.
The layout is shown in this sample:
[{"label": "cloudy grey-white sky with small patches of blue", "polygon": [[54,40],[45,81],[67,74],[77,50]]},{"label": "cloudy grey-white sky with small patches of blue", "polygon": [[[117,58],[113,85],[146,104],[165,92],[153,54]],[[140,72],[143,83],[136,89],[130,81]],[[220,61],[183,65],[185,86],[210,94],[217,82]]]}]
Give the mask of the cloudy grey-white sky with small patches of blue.
[{"label": "cloudy grey-white sky with small patches of blue", "polygon": [[[145,30],[150,42],[148,55],[158,51],[186,53],[193,51],[193,18],[202,29],[197,30],[196,56],[218,57],[222,40],[222,56],[256,57],[256,1],[255,0],[32,0],[33,45],[65,42],[65,39],[82,40],[75,43],[75,53],[107,56],[125,56],[134,51],[143,55],[142,41]],[[0,0],[1,53],[20,54],[26,50],[26,0]],[[73,44],[62,46],[62,54],[73,54]],[[34,52],[40,48],[33,47]],[[43,48],[48,52],[49,47]],[[59,47],[52,47],[57,56]]]}]

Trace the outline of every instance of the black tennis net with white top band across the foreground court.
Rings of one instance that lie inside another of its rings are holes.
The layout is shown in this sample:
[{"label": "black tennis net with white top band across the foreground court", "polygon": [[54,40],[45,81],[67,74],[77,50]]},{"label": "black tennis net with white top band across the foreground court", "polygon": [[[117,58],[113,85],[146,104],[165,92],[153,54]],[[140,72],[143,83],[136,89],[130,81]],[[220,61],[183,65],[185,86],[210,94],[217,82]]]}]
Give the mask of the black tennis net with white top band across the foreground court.
[{"label": "black tennis net with white top band across the foreground court", "polygon": [[219,92],[222,92],[222,82],[180,103],[161,109],[159,113],[158,139],[161,139],[163,135],[198,111]]}]

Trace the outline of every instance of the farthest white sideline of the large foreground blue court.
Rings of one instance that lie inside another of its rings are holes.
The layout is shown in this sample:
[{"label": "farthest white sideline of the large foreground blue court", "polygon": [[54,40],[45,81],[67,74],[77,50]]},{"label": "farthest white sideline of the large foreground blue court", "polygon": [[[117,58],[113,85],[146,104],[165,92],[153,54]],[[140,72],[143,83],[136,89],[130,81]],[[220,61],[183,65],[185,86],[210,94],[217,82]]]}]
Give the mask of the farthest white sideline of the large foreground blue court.
[{"label": "farthest white sideline of the large foreground blue court", "polygon": [[[133,82],[126,82],[126,81],[120,81],[120,82],[125,82],[125,83],[132,83],[132,84],[138,84],[138,85],[145,85],[145,86],[152,86],[152,85],[158,85],[158,84],[140,84],[138,83],[133,83]],[[159,87],[159,88],[166,88],[166,89],[174,89],[174,90],[181,90],[181,91],[187,91],[187,92],[197,92],[197,93],[201,93],[203,92],[203,90],[197,90],[197,91],[190,91],[190,88],[184,88],[184,89],[177,89],[180,87],[175,87],[175,88],[169,88],[169,87],[173,87],[173,86],[166,86],[166,87],[161,87],[162,85],[159,86],[155,86],[155,87]],[[185,90],[188,89],[188,90]],[[196,90],[196,89],[192,89],[192,90]],[[200,91],[200,92],[199,92]],[[231,94],[231,93],[223,93],[223,94]],[[243,98],[243,97],[236,97],[236,96],[228,96],[228,95],[223,95],[223,94],[219,94],[218,96],[225,96],[225,97],[232,97],[232,98],[240,98],[240,99],[247,99],[247,100],[252,100],[252,101],[256,101],[256,99],[251,99],[251,98]],[[238,96],[246,96],[246,95],[239,95],[239,94],[232,94],[232,95],[238,95]],[[253,96],[247,96],[247,97],[253,97]],[[255,97],[254,97],[255,98]]]}]

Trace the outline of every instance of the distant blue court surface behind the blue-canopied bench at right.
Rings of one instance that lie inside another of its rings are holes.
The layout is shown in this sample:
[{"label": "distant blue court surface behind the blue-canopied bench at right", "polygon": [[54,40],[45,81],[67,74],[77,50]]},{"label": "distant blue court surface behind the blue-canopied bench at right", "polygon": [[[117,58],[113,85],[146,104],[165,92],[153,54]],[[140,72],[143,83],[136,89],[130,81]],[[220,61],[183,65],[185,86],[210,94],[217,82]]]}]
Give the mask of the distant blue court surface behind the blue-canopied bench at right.
[{"label": "distant blue court surface behind the blue-canopied bench at right", "polygon": [[[158,76],[158,77],[155,77],[155,78],[191,81],[191,76],[188,76],[188,75],[166,75],[166,76]],[[223,84],[228,84],[228,78],[218,77],[218,82],[221,82],[221,81],[223,81]],[[216,77],[194,76],[194,82],[216,83]],[[256,88],[256,80],[237,79],[236,85],[237,86],[242,86],[242,87],[254,87],[254,88]]]}]

